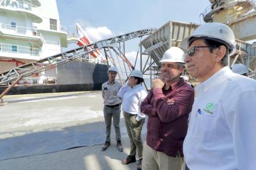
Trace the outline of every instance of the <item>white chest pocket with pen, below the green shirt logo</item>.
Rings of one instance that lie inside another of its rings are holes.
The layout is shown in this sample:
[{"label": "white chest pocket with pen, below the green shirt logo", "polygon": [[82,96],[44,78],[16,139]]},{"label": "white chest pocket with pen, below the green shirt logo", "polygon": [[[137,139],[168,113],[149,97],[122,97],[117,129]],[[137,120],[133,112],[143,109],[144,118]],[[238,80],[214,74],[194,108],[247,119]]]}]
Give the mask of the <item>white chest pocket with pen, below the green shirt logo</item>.
[{"label": "white chest pocket with pen, below the green shirt logo", "polygon": [[215,146],[217,119],[212,115],[197,114],[191,139],[203,147]]}]

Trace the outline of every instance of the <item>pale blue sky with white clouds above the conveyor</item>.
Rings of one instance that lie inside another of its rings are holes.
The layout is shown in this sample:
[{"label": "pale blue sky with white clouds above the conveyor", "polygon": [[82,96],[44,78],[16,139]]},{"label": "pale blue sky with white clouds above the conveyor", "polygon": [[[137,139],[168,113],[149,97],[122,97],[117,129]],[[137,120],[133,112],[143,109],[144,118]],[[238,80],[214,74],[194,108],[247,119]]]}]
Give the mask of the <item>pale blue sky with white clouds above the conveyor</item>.
[{"label": "pale blue sky with white clouds above the conveyor", "polygon": [[[200,24],[200,13],[210,4],[207,0],[56,1],[62,26],[72,33],[79,23],[93,41],[143,28],[159,28],[169,20]],[[127,41],[126,53],[137,53],[139,41]]]}]

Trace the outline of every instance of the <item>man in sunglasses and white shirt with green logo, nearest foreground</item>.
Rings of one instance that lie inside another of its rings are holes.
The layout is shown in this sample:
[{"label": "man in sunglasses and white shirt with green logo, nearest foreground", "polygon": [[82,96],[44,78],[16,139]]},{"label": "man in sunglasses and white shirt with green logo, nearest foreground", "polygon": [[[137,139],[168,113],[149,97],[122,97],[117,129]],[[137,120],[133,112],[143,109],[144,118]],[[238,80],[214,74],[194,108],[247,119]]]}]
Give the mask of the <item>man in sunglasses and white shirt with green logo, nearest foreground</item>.
[{"label": "man in sunglasses and white shirt with green logo, nearest foreground", "polygon": [[234,74],[227,57],[236,52],[233,31],[205,23],[183,39],[187,71],[200,84],[183,144],[190,169],[256,167],[256,81]]}]

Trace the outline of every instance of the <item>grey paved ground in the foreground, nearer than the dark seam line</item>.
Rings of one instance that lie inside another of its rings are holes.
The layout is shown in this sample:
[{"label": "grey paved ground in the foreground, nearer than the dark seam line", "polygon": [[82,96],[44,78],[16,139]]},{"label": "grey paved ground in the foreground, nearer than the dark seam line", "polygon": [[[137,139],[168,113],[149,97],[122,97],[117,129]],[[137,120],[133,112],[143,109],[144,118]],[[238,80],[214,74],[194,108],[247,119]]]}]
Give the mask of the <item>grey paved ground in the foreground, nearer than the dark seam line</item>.
[{"label": "grey paved ground in the foreground, nearer than the dark seam line", "polygon": [[127,138],[123,139],[123,152],[119,152],[115,144],[106,151],[101,151],[102,144],[79,147],[55,153],[33,155],[0,161],[0,169],[48,169],[48,170],[98,170],[98,169],[137,169],[137,163],[122,165],[121,160],[126,158],[130,151]]}]

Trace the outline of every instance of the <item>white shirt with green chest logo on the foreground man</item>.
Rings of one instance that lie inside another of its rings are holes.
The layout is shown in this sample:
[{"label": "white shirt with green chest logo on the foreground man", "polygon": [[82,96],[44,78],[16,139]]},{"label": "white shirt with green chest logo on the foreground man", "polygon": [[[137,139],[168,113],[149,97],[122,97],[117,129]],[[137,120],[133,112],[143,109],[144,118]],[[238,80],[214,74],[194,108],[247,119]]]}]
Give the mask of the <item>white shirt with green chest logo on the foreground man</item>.
[{"label": "white shirt with green chest logo on the foreground man", "polygon": [[256,81],[224,67],[195,88],[183,151],[191,170],[256,167]]}]

